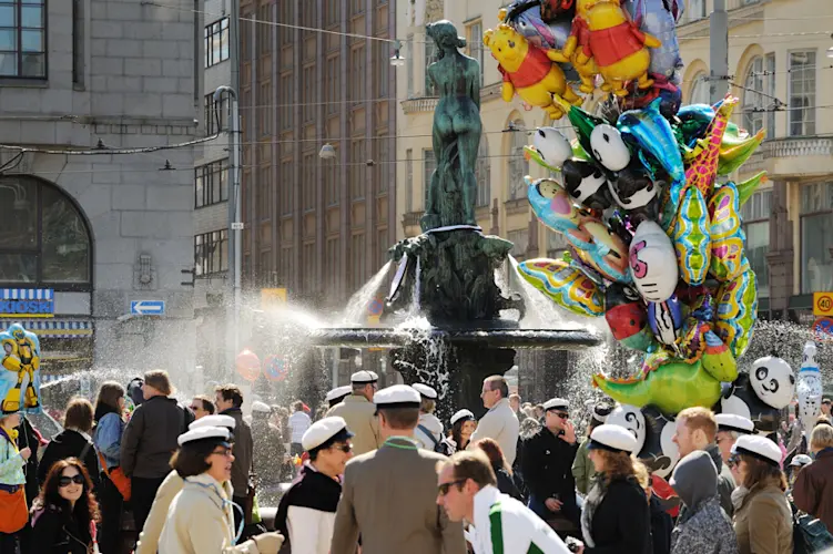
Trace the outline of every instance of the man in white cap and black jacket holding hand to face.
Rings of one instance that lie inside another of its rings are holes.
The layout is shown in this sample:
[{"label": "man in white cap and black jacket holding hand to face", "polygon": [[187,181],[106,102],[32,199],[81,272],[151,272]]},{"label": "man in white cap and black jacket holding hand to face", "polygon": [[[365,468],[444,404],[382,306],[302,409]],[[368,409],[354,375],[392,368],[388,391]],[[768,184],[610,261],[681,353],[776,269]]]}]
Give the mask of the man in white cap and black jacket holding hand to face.
[{"label": "man in white cap and black jacket holding hand to face", "polygon": [[544,427],[524,441],[522,472],[530,491],[529,507],[544,520],[566,519],[575,527],[581,512],[576,504],[572,462],[578,451],[570,403],[552,398],[544,403]]}]

